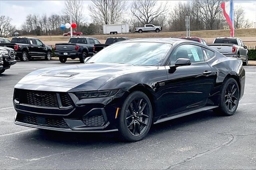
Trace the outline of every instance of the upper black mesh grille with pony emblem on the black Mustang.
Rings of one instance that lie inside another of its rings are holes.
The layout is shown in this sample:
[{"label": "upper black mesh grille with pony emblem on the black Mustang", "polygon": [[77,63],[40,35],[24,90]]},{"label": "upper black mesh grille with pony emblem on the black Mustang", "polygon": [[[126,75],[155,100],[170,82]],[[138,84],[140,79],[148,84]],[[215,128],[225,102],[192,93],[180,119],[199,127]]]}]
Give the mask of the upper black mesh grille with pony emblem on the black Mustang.
[{"label": "upper black mesh grille with pony emblem on the black Mustang", "polygon": [[57,95],[48,91],[25,91],[24,101],[22,103],[44,107],[58,107]]}]

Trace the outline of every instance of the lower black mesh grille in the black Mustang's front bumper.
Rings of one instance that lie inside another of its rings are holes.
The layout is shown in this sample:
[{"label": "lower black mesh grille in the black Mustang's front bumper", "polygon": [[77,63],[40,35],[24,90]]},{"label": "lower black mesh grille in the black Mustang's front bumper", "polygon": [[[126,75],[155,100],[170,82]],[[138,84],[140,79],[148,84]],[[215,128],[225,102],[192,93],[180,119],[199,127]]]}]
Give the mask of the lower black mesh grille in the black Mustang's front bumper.
[{"label": "lower black mesh grille in the black Mustang's front bumper", "polygon": [[62,118],[18,114],[17,121],[44,127],[69,128]]}]

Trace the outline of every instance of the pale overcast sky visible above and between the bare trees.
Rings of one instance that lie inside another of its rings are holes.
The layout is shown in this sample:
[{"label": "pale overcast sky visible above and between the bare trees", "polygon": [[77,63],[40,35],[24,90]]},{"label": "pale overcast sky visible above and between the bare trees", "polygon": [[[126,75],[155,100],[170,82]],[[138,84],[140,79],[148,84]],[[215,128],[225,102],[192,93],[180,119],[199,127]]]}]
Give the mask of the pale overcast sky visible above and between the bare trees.
[{"label": "pale overcast sky visible above and between the bare trees", "polygon": [[[87,22],[91,22],[88,15],[88,4],[92,2],[90,0],[84,0],[84,17],[87,18]],[[177,4],[178,0],[168,1],[172,8]],[[131,1],[128,1],[130,5]],[[256,0],[235,0],[235,7],[242,6],[245,12],[245,19],[249,19],[251,22],[256,22]],[[16,25],[16,28],[24,23],[28,14],[62,14],[64,9],[64,0],[0,0],[0,15],[9,16],[12,18],[12,24]]]}]

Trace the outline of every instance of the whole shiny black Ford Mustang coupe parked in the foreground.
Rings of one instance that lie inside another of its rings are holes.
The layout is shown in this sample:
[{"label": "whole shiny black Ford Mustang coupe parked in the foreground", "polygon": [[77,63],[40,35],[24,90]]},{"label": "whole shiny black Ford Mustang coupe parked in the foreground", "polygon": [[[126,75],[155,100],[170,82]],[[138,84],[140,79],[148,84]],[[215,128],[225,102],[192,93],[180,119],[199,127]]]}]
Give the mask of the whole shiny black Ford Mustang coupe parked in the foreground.
[{"label": "whole shiny black Ford Mustang coupe parked in the foreground", "polygon": [[76,132],[118,130],[142,139],[152,125],[213,109],[233,115],[244,93],[242,60],[174,38],[114,43],[85,64],[45,68],[15,86],[15,123]]}]

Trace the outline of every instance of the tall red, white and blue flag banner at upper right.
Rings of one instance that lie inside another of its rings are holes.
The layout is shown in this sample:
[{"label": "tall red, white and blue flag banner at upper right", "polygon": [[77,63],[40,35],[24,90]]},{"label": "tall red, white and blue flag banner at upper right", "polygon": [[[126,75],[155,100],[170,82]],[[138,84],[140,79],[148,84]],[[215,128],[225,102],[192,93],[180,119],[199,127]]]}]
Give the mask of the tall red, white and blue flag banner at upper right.
[{"label": "tall red, white and blue flag banner at upper right", "polygon": [[228,2],[223,2],[220,4],[220,7],[222,8],[226,21],[230,26],[230,36],[234,37],[234,1],[230,0]]}]

